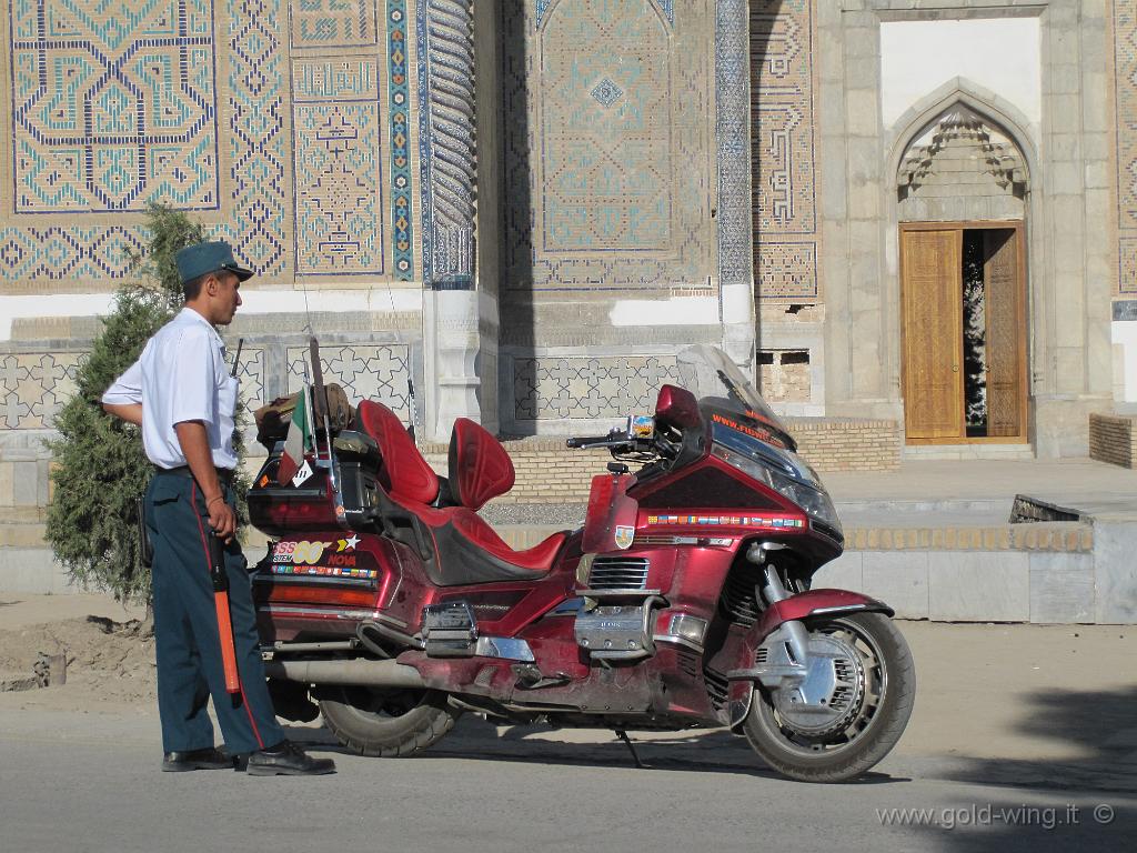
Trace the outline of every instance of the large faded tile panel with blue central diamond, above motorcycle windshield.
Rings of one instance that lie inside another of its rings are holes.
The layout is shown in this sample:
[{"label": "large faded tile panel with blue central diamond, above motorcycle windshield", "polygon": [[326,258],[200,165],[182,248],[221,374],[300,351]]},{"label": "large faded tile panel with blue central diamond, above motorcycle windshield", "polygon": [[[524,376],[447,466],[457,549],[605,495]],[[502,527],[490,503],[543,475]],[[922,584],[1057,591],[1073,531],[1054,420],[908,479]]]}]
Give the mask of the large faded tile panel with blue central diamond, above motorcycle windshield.
[{"label": "large faded tile panel with blue central diamond, above motorcycle windshield", "polygon": [[681,7],[504,0],[506,291],[708,287],[714,15]]}]

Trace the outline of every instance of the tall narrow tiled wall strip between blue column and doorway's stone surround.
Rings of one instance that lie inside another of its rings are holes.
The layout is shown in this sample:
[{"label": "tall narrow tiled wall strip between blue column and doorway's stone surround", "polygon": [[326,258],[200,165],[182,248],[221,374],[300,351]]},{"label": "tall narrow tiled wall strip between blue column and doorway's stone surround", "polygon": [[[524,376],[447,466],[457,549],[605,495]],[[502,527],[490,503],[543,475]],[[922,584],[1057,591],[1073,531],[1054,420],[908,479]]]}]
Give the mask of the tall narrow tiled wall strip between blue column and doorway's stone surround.
[{"label": "tall narrow tiled wall strip between blue column and doorway's stone surround", "polygon": [[754,260],[764,299],[819,296],[813,27],[810,0],[750,3]]}]

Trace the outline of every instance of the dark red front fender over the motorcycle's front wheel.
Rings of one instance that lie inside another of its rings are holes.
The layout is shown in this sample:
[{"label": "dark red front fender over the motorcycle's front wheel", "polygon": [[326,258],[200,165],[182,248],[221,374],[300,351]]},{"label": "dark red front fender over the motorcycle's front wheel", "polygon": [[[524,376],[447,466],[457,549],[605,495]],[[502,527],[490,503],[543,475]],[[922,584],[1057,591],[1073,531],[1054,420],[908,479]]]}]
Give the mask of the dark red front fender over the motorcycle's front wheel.
[{"label": "dark red front fender over the motorcycle's front wheel", "polygon": [[762,612],[758,621],[742,637],[735,668],[727,673],[727,678],[730,679],[727,697],[731,731],[737,732],[750,713],[754,682],[757,680],[757,676],[752,674],[754,656],[762,641],[785,622],[821,615],[841,616],[848,613],[883,613],[891,616],[895,611],[883,602],[860,593],[846,589],[811,589],[775,602]]}]

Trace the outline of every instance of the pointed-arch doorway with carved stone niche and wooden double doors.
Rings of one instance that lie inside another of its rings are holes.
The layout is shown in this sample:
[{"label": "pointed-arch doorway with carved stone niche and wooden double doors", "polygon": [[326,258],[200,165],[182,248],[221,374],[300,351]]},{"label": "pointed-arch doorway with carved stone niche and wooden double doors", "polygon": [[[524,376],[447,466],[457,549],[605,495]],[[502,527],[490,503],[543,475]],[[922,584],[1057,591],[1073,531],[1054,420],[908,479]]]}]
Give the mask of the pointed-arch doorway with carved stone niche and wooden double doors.
[{"label": "pointed-arch doorway with carved stone niche and wooden double doors", "polygon": [[897,174],[902,392],[910,445],[1027,442],[1026,162],[969,107]]}]

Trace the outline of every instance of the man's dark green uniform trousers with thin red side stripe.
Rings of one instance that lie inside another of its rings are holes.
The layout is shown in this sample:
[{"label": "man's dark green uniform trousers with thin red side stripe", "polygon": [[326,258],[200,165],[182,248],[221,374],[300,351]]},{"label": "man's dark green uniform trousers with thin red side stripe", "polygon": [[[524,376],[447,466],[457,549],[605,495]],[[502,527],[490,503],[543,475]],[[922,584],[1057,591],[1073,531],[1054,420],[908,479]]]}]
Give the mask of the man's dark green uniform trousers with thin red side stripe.
[{"label": "man's dark green uniform trousers with thin red side stripe", "polygon": [[[225,486],[233,505],[233,490]],[[236,541],[225,546],[230,618],[241,691],[225,690],[217,611],[210,579],[209,513],[188,470],[159,471],[146,494],[153,541],[153,631],[158,659],[158,712],[166,752],[214,745],[206,705],[213,696],[225,745],[244,753],[284,739],[276,722],[258,651],[252,590]]]}]

